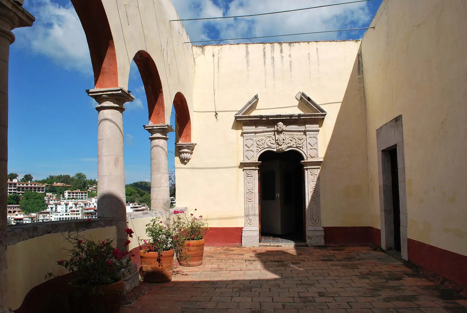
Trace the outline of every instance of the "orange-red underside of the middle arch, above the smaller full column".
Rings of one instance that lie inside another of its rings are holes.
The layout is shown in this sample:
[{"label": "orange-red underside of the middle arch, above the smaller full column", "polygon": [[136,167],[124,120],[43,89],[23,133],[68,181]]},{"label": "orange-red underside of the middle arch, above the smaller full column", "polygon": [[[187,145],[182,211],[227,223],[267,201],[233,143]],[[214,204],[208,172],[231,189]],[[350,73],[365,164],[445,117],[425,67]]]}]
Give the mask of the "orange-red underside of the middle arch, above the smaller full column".
[{"label": "orange-red underside of the middle arch, above the smaller full column", "polygon": [[140,50],[133,58],[140,71],[148,100],[149,124],[165,123],[165,106],[162,82],[156,63],[148,52]]}]

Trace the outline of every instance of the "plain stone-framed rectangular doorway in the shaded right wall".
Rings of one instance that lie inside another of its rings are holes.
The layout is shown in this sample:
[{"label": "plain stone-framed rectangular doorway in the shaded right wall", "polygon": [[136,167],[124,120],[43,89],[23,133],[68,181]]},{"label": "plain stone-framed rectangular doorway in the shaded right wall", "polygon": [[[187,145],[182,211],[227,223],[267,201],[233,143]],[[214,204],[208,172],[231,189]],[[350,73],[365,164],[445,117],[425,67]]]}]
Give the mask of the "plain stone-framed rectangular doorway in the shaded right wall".
[{"label": "plain stone-framed rectangular doorway in the shaded right wall", "polygon": [[376,130],[381,247],[384,250],[400,250],[401,257],[408,260],[403,143],[402,115]]}]

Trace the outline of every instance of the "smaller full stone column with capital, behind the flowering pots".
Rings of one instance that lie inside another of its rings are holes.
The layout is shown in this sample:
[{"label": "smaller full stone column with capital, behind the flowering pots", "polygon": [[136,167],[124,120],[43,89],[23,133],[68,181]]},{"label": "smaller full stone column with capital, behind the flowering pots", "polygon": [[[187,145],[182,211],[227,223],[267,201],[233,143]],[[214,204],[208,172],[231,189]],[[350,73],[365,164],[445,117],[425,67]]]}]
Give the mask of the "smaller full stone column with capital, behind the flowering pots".
[{"label": "smaller full stone column with capital, behind the flowering pots", "polygon": [[144,125],[151,136],[151,211],[160,211],[165,223],[170,217],[169,164],[167,134],[174,131],[169,124]]}]

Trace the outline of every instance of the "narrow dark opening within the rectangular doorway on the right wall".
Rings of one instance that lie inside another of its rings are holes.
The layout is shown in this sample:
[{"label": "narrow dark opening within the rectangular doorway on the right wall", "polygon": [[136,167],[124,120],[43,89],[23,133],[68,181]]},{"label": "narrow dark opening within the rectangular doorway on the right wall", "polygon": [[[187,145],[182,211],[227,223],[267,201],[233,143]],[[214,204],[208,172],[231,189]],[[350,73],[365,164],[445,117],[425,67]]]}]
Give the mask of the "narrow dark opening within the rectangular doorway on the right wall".
[{"label": "narrow dark opening within the rectangular doorway on the right wall", "polygon": [[389,150],[391,163],[392,207],[394,222],[394,250],[401,251],[401,210],[399,202],[399,173],[397,171],[397,148]]}]

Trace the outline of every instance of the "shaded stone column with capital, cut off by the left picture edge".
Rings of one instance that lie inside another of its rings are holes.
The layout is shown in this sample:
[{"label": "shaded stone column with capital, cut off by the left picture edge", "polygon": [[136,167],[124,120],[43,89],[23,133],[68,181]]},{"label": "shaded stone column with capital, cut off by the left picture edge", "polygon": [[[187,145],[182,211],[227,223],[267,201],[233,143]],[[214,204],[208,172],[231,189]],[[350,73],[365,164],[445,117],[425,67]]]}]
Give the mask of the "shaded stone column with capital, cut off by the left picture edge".
[{"label": "shaded stone column with capital, cut off by the left picture edge", "polygon": [[34,16],[12,0],[0,0],[0,313],[7,305],[7,163],[8,57],[14,42],[12,29],[31,26]]}]

